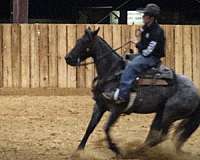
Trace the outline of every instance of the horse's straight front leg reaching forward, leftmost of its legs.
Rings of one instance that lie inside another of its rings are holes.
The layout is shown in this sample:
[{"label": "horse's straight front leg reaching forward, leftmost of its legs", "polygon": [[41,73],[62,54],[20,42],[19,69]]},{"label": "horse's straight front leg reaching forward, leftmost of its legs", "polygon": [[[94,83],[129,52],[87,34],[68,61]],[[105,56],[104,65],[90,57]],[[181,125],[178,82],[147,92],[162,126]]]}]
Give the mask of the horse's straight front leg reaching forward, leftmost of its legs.
[{"label": "horse's straight front leg reaching forward, leftmost of its legs", "polygon": [[87,143],[87,140],[90,136],[90,134],[93,132],[99,121],[101,120],[101,117],[105,113],[104,108],[100,108],[97,104],[94,105],[94,110],[92,114],[92,118],[89,122],[89,125],[87,127],[87,130],[85,132],[85,135],[83,136],[81,143],[78,146],[78,150],[84,149],[85,145]]}]

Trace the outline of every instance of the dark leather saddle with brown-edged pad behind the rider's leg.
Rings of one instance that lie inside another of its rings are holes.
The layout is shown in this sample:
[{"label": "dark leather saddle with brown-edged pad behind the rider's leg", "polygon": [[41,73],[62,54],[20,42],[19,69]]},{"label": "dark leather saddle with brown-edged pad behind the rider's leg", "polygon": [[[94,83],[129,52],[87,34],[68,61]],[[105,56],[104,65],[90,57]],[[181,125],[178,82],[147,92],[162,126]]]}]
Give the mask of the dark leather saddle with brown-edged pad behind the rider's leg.
[{"label": "dark leather saddle with brown-edged pad behind the rider's leg", "polygon": [[174,71],[165,65],[158,64],[137,77],[137,85],[167,86],[174,80]]}]

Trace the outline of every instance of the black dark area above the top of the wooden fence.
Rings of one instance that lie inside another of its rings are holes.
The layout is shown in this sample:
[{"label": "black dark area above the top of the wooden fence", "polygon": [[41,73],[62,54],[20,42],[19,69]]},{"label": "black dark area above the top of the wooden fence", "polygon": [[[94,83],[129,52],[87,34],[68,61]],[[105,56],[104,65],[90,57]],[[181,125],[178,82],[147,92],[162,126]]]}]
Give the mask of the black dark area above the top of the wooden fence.
[{"label": "black dark area above the top of the wooden fence", "polygon": [[[125,1],[29,0],[29,22],[78,23],[79,11],[82,11],[88,16],[87,23],[96,23]],[[131,0],[120,11],[125,13],[127,10],[143,8],[151,2],[161,7],[161,24],[200,24],[200,0]],[[12,0],[0,0],[0,22],[12,22]],[[102,23],[109,23],[109,18]]]}]

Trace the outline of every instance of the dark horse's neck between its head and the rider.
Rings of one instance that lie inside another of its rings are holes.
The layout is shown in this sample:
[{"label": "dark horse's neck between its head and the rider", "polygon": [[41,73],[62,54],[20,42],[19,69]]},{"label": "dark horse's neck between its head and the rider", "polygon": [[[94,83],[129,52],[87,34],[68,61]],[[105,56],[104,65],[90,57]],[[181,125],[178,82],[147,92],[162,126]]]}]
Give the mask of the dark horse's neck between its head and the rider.
[{"label": "dark horse's neck between its head and the rider", "polygon": [[[101,38],[98,38],[96,43],[98,44],[96,44],[94,61],[98,76],[103,78],[121,70],[122,60],[112,52],[112,48]],[[105,57],[101,59],[102,56]]]}]

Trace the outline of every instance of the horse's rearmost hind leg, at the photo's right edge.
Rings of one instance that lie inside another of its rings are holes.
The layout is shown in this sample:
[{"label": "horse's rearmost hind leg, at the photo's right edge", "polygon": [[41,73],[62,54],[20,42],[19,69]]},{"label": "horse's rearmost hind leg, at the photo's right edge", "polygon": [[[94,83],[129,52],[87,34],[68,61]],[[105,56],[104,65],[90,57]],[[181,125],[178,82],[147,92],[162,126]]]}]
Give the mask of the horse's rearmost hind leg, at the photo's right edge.
[{"label": "horse's rearmost hind leg, at the photo's right edge", "polygon": [[200,112],[196,112],[189,119],[183,120],[176,128],[173,138],[176,151],[180,152],[183,144],[200,125]]}]

